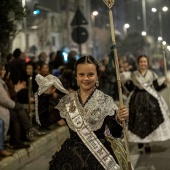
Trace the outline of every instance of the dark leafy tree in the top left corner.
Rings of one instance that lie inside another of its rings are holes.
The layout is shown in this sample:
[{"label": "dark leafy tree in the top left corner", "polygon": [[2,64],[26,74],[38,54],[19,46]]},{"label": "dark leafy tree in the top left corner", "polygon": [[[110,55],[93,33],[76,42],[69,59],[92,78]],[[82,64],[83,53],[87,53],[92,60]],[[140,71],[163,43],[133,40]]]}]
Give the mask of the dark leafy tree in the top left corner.
[{"label": "dark leafy tree in the top left corner", "polygon": [[1,0],[0,3],[0,53],[5,59],[11,50],[12,40],[19,32],[18,24],[26,17],[27,10],[20,0]]}]

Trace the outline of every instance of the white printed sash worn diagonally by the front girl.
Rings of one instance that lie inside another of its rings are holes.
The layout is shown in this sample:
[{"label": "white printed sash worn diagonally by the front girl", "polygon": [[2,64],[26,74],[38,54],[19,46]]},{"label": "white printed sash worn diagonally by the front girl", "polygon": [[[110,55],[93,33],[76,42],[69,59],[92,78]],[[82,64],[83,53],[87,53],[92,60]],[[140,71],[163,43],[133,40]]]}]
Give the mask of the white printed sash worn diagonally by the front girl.
[{"label": "white printed sash worn diagonally by the front girl", "polygon": [[66,104],[66,109],[80,139],[96,157],[104,169],[120,170],[120,166],[116,163],[112,155],[110,155],[108,150],[104,147],[97,136],[91,131],[90,127],[82,119],[75,100],[73,102],[73,105],[70,105],[70,103]]}]

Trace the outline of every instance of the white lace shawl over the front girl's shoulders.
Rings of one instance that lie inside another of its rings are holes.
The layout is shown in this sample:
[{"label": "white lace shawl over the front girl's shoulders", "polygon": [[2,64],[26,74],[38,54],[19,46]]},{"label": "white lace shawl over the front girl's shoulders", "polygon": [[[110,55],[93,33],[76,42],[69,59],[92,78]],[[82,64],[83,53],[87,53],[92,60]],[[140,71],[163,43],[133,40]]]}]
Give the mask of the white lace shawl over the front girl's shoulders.
[{"label": "white lace shawl over the front girl's shoulders", "polygon": [[99,90],[95,90],[91,98],[83,107],[78,99],[78,93],[70,93],[64,96],[56,108],[60,111],[60,116],[65,118],[68,126],[75,131],[74,125],[67,113],[66,104],[70,103],[70,109],[74,108],[74,102],[76,101],[78,110],[85,120],[85,122],[90,126],[92,131],[96,131],[101,128],[106,116],[113,116],[118,110],[117,105],[114,103],[113,99],[104,94]]}]

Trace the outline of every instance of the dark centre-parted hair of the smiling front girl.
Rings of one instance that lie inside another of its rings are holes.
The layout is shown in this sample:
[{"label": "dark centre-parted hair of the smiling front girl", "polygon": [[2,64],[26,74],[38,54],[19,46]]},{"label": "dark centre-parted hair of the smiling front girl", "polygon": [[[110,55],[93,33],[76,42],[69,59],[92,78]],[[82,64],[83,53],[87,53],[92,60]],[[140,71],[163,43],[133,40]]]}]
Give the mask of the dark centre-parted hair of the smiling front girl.
[{"label": "dark centre-parted hair of the smiling front girl", "polygon": [[87,64],[94,64],[96,66],[97,75],[99,75],[99,64],[96,61],[96,59],[92,56],[83,56],[83,57],[80,57],[75,63],[75,66],[74,66],[75,76],[77,75],[77,66],[79,64],[86,64],[86,63]]}]

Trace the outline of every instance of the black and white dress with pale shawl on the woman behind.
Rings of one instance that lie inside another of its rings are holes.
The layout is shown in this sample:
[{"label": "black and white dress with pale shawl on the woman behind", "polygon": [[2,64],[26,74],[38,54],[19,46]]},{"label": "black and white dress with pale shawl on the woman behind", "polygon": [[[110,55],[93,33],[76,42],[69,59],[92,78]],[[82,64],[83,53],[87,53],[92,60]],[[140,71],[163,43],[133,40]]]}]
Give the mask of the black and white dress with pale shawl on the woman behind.
[{"label": "black and white dress with pale shawl on the woman behind", "polygon": [[126,87],[129,97],[129,142],[148,143],[170,139],[170,119],[167,105],[157,91],[157,75],[148,70],[143,76],[138,70],[131,75]]}]

